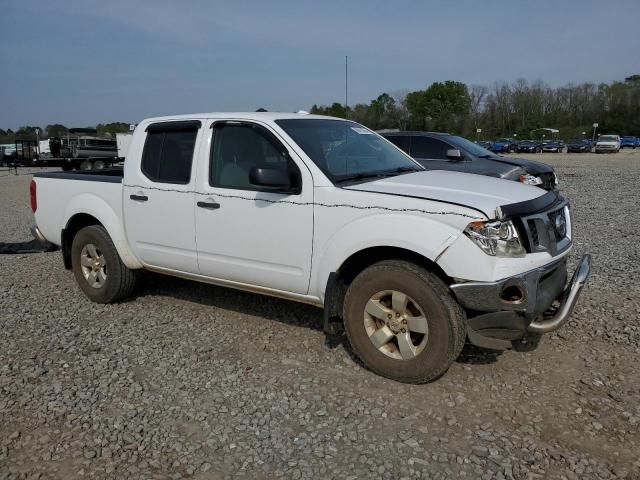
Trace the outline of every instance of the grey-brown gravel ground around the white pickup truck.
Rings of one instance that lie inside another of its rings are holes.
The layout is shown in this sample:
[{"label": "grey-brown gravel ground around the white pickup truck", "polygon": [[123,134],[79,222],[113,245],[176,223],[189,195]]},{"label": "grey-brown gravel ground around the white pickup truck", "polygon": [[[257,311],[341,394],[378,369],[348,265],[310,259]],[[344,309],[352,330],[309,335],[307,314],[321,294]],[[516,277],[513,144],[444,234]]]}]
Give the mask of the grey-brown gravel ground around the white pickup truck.
[{"label": "grey-brown gravel ground around the white pickup truck", "polygon": [[[538,350],[467,347],[429,385],[312,307],[156,275],[99,306],[59,253],[0,255],[0,479],[640,478],[640,151],[531,158],[590,283]],[[0,242],[30,240],[29,179],[0,178]]]}]

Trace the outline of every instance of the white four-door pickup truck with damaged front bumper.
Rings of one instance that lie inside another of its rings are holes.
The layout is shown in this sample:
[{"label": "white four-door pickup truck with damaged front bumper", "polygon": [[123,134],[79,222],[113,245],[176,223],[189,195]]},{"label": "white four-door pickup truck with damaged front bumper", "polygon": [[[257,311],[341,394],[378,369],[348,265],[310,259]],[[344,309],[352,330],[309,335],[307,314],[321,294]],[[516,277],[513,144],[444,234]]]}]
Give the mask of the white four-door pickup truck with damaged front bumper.
[{"label": "white four-door pickup truck with damaged front bumper", "polygon": [[123,169],[35,174],[31,207],[34,235],[95,302],[130,295],[142,269],[307,302],[402,382],[444,374],[467,339],[535,346],[589,274],[585,255],[567,284],[558,192],[425,171],[323,116],[147,119]]}]

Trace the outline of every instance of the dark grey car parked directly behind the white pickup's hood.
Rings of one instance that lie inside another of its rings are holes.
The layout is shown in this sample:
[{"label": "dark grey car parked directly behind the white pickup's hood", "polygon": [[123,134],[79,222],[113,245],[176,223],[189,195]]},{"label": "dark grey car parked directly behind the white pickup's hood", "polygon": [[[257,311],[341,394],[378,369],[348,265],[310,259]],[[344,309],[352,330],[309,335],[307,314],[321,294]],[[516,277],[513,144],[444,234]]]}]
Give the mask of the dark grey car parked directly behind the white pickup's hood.
[{"label": "dark grey car parked directly behind the white pickup's hood", "polygon": [[546,163],[497,155],[466,138],[438,132],[381,131],[380,135],[427,170],[453,170],[505,178],[553,190],[556,175]]}]

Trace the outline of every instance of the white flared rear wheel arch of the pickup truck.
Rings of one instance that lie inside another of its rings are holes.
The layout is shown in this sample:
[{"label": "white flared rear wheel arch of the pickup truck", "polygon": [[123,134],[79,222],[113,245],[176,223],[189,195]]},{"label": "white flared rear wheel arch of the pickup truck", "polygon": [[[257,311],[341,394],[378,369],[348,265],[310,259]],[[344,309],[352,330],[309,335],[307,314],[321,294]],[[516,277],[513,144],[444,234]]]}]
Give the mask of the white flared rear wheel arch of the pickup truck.
[{"label": "white flared rear wheel arch of the pickup truck", "polygon": [[63,223],[65,228],[69,225],[70,220],[78,214],[91,215],[102,224],[111,237],[122,263],[131,269],[142,268],[142,264],[129,248],[120,217],[109,203],[89,193],[74,196],[65,209]]}]

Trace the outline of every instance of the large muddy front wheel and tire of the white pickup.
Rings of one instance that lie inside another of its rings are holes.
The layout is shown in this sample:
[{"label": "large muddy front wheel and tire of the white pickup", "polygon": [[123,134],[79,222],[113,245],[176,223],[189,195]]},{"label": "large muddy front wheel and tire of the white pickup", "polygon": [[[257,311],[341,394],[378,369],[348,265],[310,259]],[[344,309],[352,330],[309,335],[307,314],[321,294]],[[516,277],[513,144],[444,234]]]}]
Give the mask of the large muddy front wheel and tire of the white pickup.
[{"label": "large muddy front wheel and tire of the white pickup", "polygon": [[413,263],[385,260],[349,285],[345,331],[375,373],[404,383],[442,376],[466,340],[465,314],[446,285]]}]

